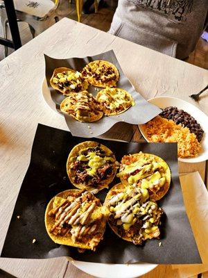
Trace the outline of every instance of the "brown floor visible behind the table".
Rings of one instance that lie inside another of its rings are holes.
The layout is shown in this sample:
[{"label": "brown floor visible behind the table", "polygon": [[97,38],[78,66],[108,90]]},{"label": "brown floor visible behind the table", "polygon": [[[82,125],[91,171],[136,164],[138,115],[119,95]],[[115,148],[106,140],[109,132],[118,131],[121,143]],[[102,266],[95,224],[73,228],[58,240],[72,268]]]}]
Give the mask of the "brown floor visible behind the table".
[{"label": "brown floor visible behind the table", "polygon": [[[102,31],[108,31],[110,24],[112,22],[112,17],[114,15],[114,10],[116,9],[116,0],[105,0],[105,7],[100,8],[98,13],[92,13],[89,15],[83,14],[82,22],[94,28],[98,28]],[[74,0],[72,3],[69,1],[61,0],[59,8],[59,16],[69,17],[70,19],[77,20],[76,6]],[[21,34],[22,44],[26,44],[32,39],[31,32],[28,28],[28,24],[25,22],[19,22],[19,31]],[[2,35],[2,30],[0,26],[0,35]],[[12,53],[12,49],[9,49],[8,53]],[[4,49],[0,45],[0,60],[4,58]],[[200,38],[196,50],[189,56],[186,60],[187,63],[197,65],[208,70],[208,42]]]}]

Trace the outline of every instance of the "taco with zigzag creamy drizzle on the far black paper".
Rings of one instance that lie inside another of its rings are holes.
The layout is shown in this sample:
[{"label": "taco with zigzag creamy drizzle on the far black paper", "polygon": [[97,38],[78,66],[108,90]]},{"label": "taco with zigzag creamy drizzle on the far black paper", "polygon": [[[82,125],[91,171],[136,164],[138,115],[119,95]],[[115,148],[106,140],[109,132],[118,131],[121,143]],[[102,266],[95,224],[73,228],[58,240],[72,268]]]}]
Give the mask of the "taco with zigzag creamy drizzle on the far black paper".
[{"label": "taco with zigzag creamy drizzle on the far black paper", "polygon": [[96,122],[103,117],[100,104],[87,91],[71,93],[60,104],[60,110],[79,122]]}]

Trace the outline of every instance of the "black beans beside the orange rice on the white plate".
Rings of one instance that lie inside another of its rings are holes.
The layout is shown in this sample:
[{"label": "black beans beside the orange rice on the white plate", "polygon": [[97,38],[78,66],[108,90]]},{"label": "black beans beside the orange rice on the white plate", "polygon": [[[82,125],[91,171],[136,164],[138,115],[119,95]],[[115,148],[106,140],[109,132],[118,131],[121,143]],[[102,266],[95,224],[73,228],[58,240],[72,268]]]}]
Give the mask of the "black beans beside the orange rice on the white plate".
[{"label": "black beans beside the orange rice on the white plate", "polygon": [[189,113],[183,111],[182,109],[177,109],[177,107],[169,106],[163,109],[162,113],[159,114],[168,120],[173,120],[175,124],[182,124],[182,126],[188,127],[191,133],[196,134],[198,142],[202,140],[204,131],[202,130],[200,124],[189,115]]}]

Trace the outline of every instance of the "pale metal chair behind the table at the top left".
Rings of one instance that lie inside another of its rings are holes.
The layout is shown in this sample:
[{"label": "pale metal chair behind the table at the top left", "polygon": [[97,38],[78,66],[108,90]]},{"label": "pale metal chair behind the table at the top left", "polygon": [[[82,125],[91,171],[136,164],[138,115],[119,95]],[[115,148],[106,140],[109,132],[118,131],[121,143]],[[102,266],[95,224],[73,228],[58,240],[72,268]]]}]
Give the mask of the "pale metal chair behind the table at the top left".
[{"label": "pale metal chair behind the table at the top left", "polygon": [[[14,5],[17,20],[28,23],[33,38],[58,21],[58,0],[55,3],[51,0],[14,0]],[[8,17],[3,1],[0,2],[0,16],[3,37],[7,38]],[[8,47],[5,47],[5,56],[7,54]]]}]

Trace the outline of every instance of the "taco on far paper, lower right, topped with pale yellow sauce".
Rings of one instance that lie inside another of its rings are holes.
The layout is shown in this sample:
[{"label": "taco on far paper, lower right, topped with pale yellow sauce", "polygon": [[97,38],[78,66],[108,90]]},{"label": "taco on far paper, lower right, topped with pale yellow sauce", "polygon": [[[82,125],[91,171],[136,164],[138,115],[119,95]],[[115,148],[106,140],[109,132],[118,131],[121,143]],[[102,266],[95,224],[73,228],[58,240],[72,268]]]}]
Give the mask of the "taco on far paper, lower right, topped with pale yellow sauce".
[{"label": "taco on far paper, lower right, topped with pale yellow sauce", "polygon": [[118,115],[135,105],[132,96],[123,89],[106,88],[98,92],[97,101],[102,106],[105,115]]}]

